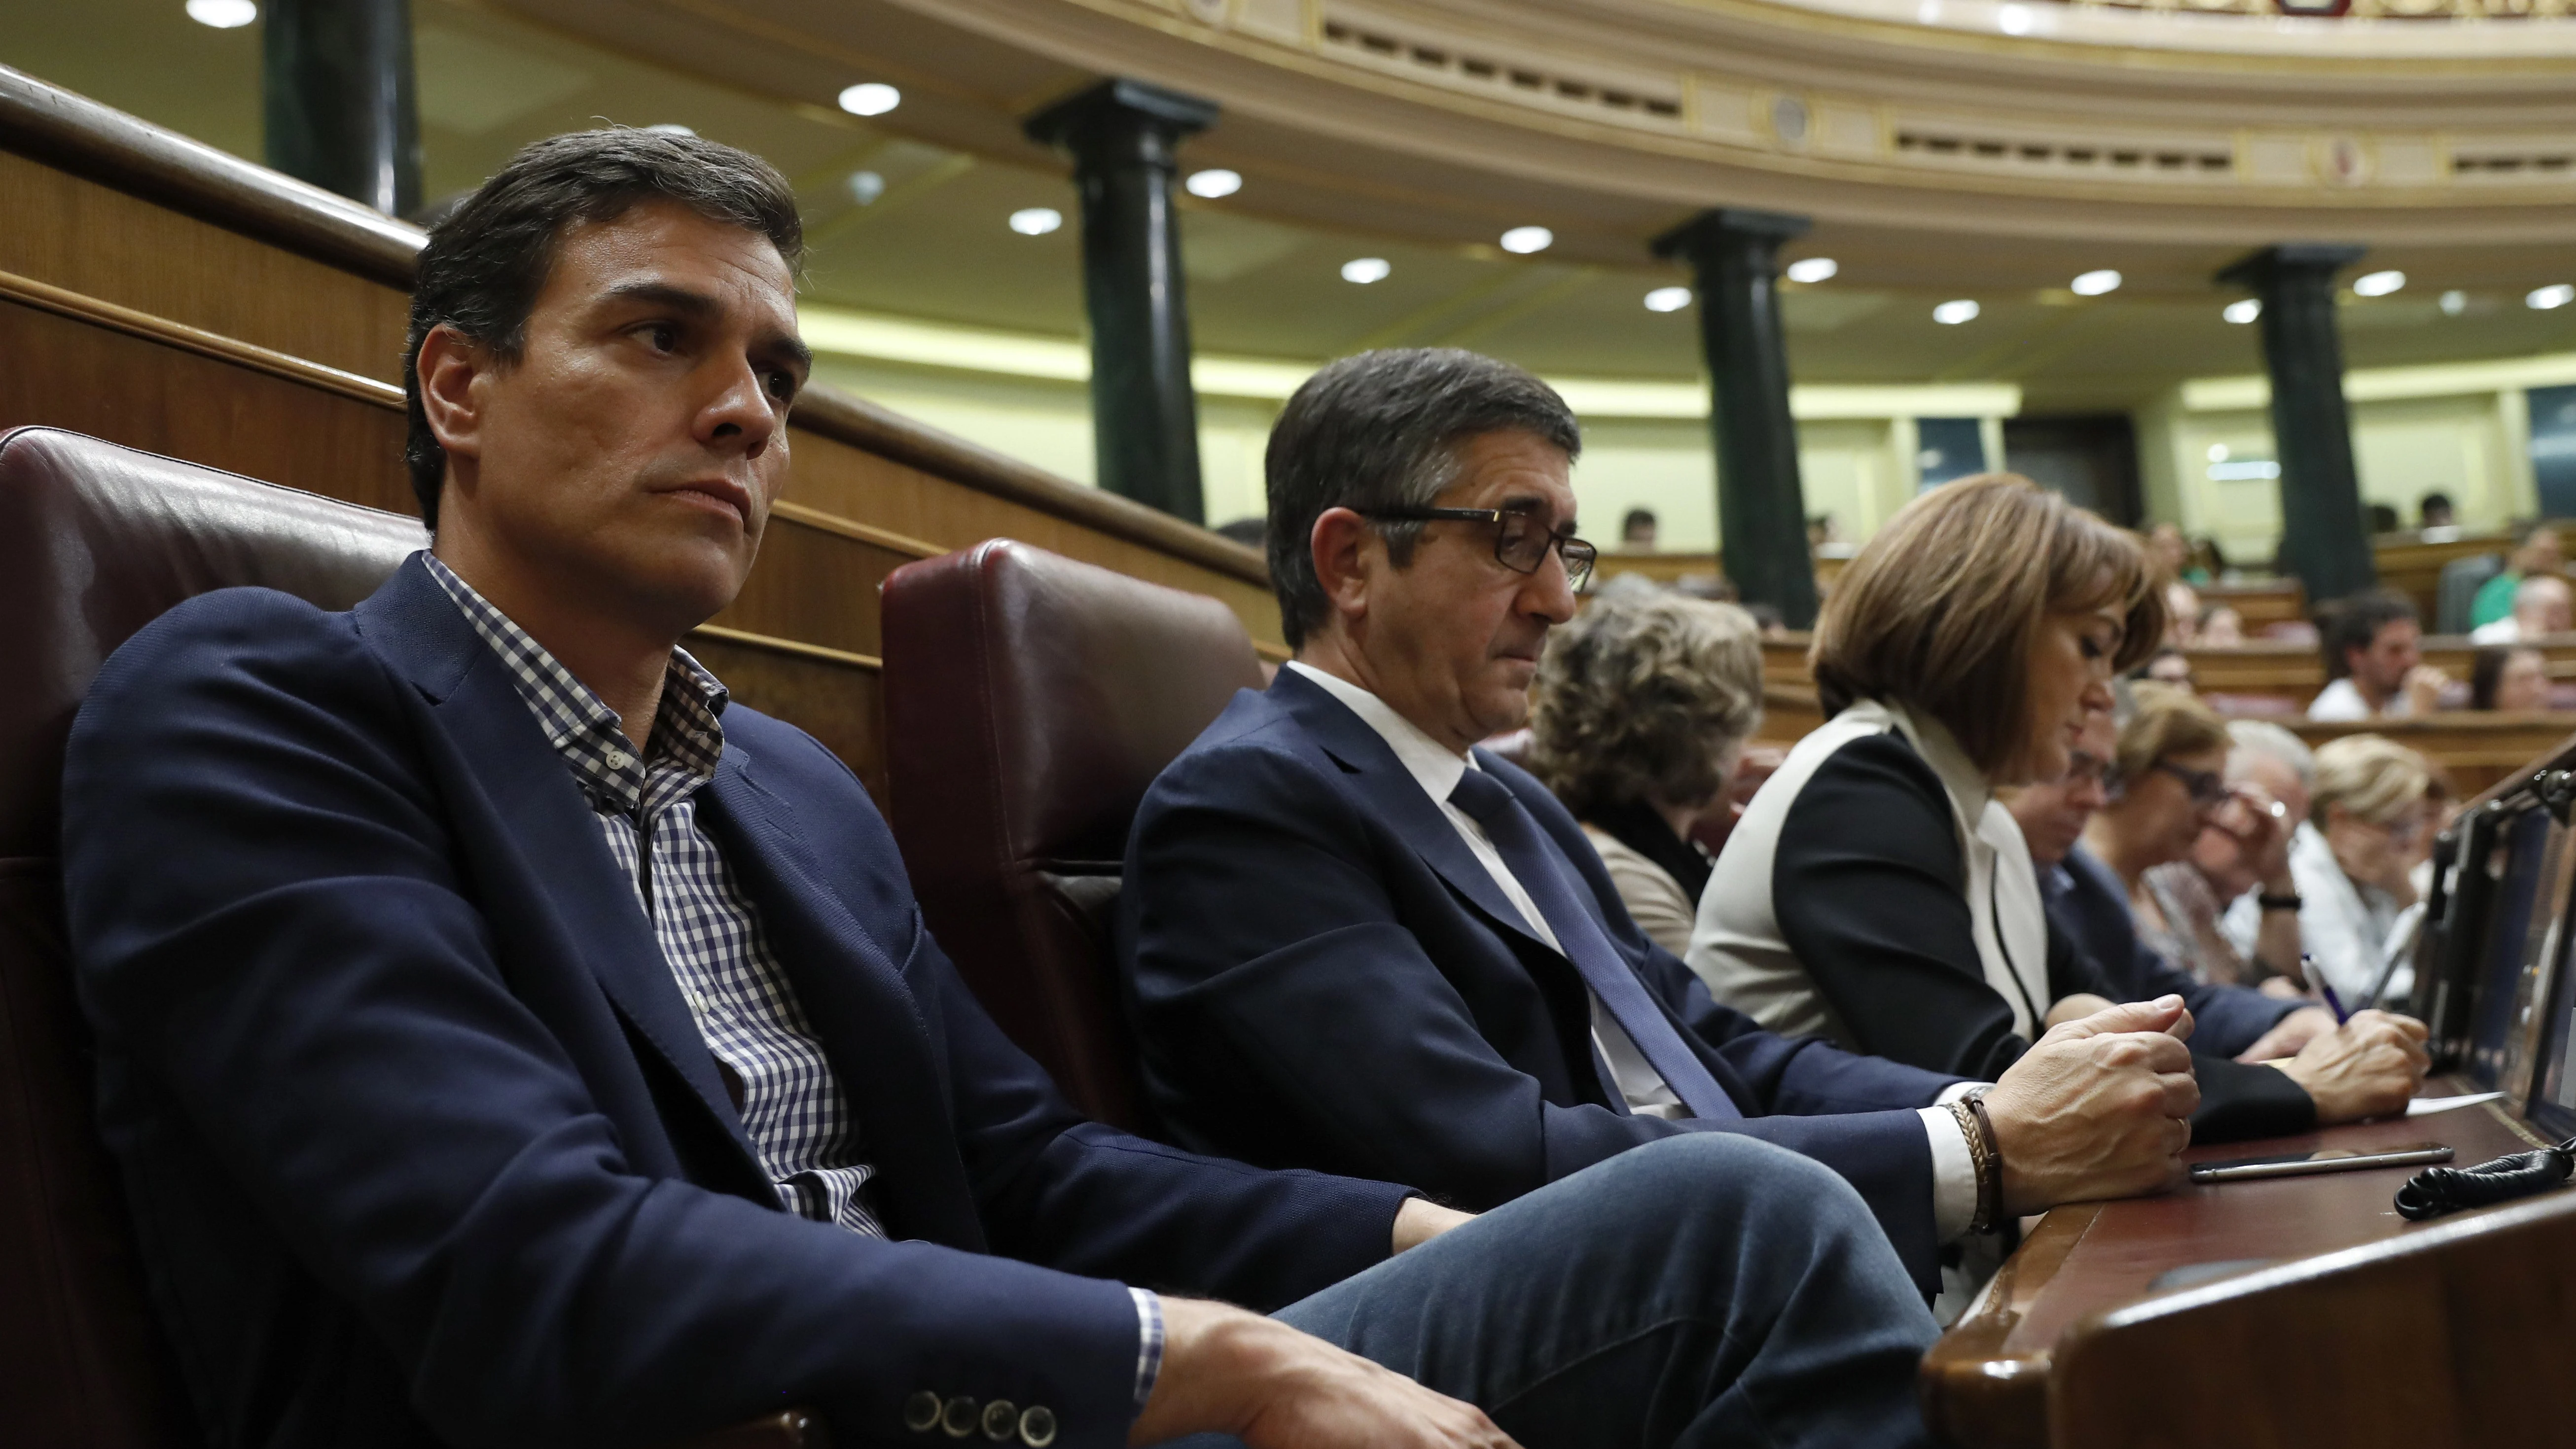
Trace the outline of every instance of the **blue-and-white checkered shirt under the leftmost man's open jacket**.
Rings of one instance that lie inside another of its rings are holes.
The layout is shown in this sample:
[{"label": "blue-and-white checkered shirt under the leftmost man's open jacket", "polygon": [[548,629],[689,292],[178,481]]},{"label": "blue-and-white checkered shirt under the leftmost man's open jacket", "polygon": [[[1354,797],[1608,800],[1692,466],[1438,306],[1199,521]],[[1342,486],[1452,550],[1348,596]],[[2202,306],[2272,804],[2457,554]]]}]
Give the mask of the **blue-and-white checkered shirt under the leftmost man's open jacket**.
[{"label": "blue-and-white checkered shirt under the leftmost man's open jacket", "polygon": [[600,839],[652,921],[778,1202],[817,1223],[884,1235],[868,1207],[876,1168],[858,1158],[850,1099],[760,929],[760,911],[698,829],[698,790],[724,757],[716,721],[724,685],[685,649],[672,649],[662,708],[636,759],[616,710],[435,553],[422,561],[510,669],[520,700],[590,798]]}]

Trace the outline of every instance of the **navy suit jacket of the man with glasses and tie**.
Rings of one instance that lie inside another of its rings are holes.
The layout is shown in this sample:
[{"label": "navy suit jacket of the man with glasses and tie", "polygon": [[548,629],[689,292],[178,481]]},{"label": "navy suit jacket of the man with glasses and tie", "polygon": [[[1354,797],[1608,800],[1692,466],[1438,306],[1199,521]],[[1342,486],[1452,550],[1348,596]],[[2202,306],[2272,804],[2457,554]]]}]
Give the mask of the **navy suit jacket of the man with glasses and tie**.
[{"label": "navy suit jacket of the man with glasses and tie", "polygon": [[1396,1176],[1492,1207],[1674,1132],[1837,1168],[1937,1284],[1932,1150],[1950,1076],[1785,1040],[1646,939],[1574,816],[1479,752],[1744,1122],[1633,1117],[1602,1086],[1589,993],[1528,932],[1394,749],[1296,669],[1175,759],[1128,836],[1118,945],[1154,1107],[1193,1148]]}]

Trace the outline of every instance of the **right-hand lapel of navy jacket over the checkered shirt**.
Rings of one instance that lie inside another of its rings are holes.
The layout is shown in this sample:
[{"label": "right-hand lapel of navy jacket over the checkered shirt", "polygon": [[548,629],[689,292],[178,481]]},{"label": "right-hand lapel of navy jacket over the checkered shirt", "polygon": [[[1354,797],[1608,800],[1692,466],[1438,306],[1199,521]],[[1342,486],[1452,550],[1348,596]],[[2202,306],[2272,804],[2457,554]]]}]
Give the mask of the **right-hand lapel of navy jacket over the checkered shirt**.
[{"label": "right-hand lapel of navy jacket over the checkered shirt", "polygon": [[742,746],[724,746],[698,824],[757,903],[796,1001],[840,1076],[860,1150],[878,1166],[871,1192],[889,1233],[981,1251],[945,1071],[902,963],[827,885],[796,808],[760,785],[757,762]]}]

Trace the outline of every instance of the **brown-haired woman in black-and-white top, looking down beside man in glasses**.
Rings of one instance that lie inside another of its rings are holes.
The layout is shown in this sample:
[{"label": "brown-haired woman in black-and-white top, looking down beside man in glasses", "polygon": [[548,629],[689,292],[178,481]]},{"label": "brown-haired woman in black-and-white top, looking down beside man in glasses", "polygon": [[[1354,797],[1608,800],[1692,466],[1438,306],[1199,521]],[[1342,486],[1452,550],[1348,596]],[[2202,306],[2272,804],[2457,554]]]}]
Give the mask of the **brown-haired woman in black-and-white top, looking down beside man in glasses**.
[{"label": "brown-haired woman in black-and-white top, looking down beside man in glasses", "polygon": [[[2117,986],[2050,929],[1994,790],[2066,775],[2159,613],[2136,538],[2027,479],[1899,510],[1816,625],[1834,715],[1728,836],[1690,968],[1777,1032],[1981,1078],[2099,1009]],[[2197,1053],[2195,1071],[2202,1140],[2316,1122],[2287,1073]]]}]

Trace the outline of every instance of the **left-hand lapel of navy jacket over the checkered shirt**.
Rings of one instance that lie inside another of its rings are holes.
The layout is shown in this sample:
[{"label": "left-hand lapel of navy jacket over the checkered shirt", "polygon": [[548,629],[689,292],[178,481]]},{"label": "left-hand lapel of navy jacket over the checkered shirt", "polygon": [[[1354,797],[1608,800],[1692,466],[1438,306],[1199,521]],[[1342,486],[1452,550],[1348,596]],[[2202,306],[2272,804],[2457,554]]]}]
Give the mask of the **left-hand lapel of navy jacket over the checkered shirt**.
[{"label": "left-hand lapel of navy jacket over the checkered shirt", "polygon": [[634,883],[600,842],[590,800],[564,757],[546,744],[507,667],[417,558],[358,605],[358,615],[376,649],[433,700],[438,723],[500,818],[502,839],[518,849],[515,870],[554,906],[556,937],[569,942],[626,1024],[724,1125],[747,1168],[768,1181]]}]

